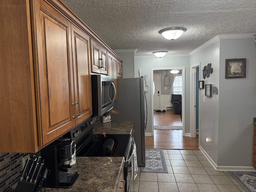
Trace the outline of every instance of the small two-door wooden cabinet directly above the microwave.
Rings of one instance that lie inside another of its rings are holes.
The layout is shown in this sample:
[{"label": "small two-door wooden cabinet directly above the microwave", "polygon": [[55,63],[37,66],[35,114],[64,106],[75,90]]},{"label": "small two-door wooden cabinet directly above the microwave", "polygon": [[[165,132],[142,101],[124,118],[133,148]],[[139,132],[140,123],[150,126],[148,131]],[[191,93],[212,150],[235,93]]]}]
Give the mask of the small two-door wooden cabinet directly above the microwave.
[{"label": "small two-door wooden cabinet directly above the microwave", "polygon": [[92,72],[108,75],[107,50],[91,40]]}]

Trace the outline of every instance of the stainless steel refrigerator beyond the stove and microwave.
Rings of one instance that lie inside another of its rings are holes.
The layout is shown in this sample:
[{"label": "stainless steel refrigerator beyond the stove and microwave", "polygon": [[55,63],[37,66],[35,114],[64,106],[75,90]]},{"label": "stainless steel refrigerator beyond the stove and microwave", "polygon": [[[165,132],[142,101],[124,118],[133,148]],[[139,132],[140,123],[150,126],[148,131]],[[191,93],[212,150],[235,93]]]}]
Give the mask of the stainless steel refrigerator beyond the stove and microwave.
[{"label": "stainless steel refrigerator beyond the stove and microwave", "polygon": [[109,112],[111,120],[134,121],[134,140],[136,143],[138,166],[145,166],[147,103],[144,77],[118,78],[117,83],[118,99],[114,104],[114,108]]}]

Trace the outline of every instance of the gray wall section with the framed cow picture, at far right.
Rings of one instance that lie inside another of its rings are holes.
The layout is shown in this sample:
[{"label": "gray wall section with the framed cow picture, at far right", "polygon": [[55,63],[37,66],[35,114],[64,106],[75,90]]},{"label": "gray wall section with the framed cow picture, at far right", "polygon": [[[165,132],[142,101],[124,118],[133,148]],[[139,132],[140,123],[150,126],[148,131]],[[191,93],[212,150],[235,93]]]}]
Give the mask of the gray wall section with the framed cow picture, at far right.
[{"label": "gray wall section with the framed cow picture, at far right", "polygon": [[[246,78],[225,79],[225,61],[246,58]],[[252,166],[256,117],[256,45],[253,38],[220,40],[218,166]]]}]

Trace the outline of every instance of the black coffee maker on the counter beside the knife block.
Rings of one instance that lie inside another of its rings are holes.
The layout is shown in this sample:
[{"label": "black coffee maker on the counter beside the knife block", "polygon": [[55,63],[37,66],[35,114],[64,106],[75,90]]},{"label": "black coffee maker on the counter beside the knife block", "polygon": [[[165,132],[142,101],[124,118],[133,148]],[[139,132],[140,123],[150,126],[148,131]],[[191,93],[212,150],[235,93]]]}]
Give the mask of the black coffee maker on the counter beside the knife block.
[{"label": "black coffee maker on the counter beside the knife block", "polygon": [[69,138],[60,138],[43,148],[41,156],[44,166],[50,170],[46,180],[49,188],[70,188],[76,182],[79,174],[69,172],[74,142]]}]

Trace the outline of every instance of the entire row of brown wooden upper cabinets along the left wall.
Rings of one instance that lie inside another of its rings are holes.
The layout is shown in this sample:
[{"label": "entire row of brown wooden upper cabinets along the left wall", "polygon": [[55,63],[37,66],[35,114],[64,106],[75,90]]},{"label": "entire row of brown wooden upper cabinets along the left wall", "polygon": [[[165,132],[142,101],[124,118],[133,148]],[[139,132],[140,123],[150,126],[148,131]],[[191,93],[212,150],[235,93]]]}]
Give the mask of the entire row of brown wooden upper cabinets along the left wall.
[{"label": "entire row of brown wooden upper cabinets along the left wall", "polygon": [[0,7],[0,152],[35,153],[90,118],[90,73],[115,54],[61,0]]}]

